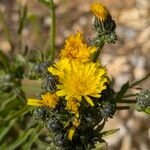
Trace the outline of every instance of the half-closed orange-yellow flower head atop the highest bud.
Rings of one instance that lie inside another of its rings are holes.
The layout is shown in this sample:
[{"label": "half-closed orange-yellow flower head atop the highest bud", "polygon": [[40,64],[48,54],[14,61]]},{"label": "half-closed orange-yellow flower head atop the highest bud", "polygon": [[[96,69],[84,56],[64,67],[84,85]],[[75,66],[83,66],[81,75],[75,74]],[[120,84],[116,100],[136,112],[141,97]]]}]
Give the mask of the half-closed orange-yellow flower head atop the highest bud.
[{"label": "half-closed orange-yellow flower head atop the highest bud", "polygon": [[110,15],[108,9],[101,3],[93,3],[90,7],[93,14],[99,18],[100,21],[105,21]]}]

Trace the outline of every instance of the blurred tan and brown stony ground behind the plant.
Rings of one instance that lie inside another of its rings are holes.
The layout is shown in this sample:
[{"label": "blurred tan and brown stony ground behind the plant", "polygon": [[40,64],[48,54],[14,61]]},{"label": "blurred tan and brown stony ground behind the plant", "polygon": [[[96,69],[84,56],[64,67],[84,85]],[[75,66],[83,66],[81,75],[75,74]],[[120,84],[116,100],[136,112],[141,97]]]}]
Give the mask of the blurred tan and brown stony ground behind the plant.
[{"label": "blurred tan and brown stony ground behind the plant", "polygon": [[[54,0],[56,4],[56,47],[63,48],[64,40],[77,31],[92,37],[93,16],[90,4],[96,0]],[[116,21],[118,40],[105,45],[101,61],[115,78],[115,89],[130,80],[138,80],[150,71],[150,1],[101,0]],[[27,17],[22,29],[21,45],[18,36],[19,16],[27,4]],[[50,46],[50,13],[37,0],[0,0],[0,50],[6,55],[31,51],[44,51]],[[150,89],[150,80],[141,84]],[[133,90],[135,92],[136,89]],[[117,112],[106,129],[120,128],[106,140],[110,150],[149,150],[150,118],[135,111]]]}]

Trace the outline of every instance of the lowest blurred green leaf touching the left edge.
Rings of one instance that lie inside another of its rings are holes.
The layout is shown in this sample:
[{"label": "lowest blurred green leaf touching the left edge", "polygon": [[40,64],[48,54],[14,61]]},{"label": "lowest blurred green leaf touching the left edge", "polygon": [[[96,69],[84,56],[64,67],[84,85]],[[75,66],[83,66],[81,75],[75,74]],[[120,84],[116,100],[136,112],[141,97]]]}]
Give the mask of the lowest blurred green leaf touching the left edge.
[{"label": "lowest blurred green leaf touching the left edge", "polygon": [[10,128],[14,125],[15,122],[16,122],[16,119],[11,120],[7,126],[2,126],[0,128],[0,142],[2,141],[4,136],[9,132]]}]

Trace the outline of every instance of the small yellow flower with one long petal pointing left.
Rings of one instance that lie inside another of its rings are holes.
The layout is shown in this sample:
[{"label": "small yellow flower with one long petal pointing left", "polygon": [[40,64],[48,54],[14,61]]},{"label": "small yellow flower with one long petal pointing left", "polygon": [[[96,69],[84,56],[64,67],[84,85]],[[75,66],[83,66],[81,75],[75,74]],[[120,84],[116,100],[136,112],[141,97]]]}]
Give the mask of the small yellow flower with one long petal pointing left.
[{"label": "small yellow flower with one long petal pointing left", "polygon": [[51,94],[47,92],[44,95],[41,95],[42,100],[29,98],[27,105],[32,106],[47,106],[50,108],[55,108],[59,99],[56,94]]}]

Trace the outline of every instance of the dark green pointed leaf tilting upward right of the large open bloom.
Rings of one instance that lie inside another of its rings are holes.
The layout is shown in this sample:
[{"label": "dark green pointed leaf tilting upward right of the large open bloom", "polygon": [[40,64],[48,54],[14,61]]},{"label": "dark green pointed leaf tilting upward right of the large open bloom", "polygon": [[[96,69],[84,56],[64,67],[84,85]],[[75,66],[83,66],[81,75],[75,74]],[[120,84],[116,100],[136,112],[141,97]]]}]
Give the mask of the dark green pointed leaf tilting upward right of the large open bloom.
[{"label": "dark green pointed leaf tilting upward right of the large open bloom", "polygon": [[115,97],[116,101],[120,101],[123,96],[125,95],[125,93],[127,92],[127,90],[129,89],[129,82],[126,82],[122,87],[121,90],[118,92],[118,94]]}]

